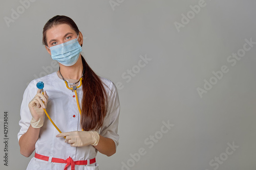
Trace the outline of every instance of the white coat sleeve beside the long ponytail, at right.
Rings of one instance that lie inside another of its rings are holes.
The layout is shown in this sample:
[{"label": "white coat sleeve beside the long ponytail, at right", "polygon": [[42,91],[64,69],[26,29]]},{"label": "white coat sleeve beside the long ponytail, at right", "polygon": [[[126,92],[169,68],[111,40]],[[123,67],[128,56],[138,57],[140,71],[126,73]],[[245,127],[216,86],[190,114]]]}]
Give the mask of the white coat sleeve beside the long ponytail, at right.
[{"label": "white coat sleeve beside the long ponytail, at right", "polygon": [[118,92],[115,84],[111,82],[109,92],[109,105],[108,112],[103,122],[103,126],[100,132],[100,135],[106,138],[111,138],[114,140],[116,144],[116,148],[118,146],[119,135],[117,134],[118,130],[118,121],[119,121],[119,112],[120,112],[120,104]]}]

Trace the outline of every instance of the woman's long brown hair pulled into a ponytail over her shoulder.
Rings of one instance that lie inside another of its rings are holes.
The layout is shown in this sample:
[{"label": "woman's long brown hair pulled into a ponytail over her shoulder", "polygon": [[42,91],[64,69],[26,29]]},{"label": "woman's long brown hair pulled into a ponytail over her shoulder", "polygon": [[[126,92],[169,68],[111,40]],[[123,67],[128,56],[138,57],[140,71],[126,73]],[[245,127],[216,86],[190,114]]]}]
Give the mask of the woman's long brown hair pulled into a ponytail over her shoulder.
[{"label": "woman's long brown hair pulled into a ponytail over her shoulder", "polygon": [[[76,23],[67,16],[56,15],[49,19],[42,31],[42,44],[47,45],[46,32],[53,26],[66,23],[77,34],[79,29]],[[81,56],[84,68],[82,79],[82,106],[81,106],[81,128],[84,131],[99,129],[102,124],[106,111],[108,110],[108,98],[104,88],[104,83],[88,65],[86,60]]]}]

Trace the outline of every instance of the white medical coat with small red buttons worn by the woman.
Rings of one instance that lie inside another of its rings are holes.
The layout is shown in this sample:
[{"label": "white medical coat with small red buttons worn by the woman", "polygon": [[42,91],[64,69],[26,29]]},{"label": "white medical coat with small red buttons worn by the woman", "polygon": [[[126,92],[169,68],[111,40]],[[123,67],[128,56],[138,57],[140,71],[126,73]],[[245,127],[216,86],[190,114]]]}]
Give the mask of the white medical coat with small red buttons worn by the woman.
[{"label": "white medical coat with small red buttons worn by the woman", "polygon": [[[109,110],[106,114],[102,127],[97,132],[104,137],[113,139],[117,147],[119,139],[117,128],[120,111],[118,92],[112,81],[102,77],[100,77],[100,79],[106,84],[106,86],[108,86],[108,88],[104,87],[109,94]],[[76,98],[73,97],[75,92],[72,92],[72,90],[66,87],[65,82],[57,76],[57,72],[53,72],[50,75],[33,80],[26,88],[20,108],[21,119],[19,121],[20,131],[17,135],[18,140],[20,136],[27,132],[30,126],[32,116],[29,111],[28,104],[37,92],[36,83],[39,81],[44,82],[44,90],[49,96],[47,112],[60,131],[81,131],[80,114],[77,108]],[[81,106],[82,87],[77,89],[77,95]],[[75,117],[73,115],[75,115]],[[70,156],[74,161],[93,159],[96,157],[97,150],[92,145],[88,145],[86,147],[71,147],[69,143],[65,142],[65,138],[55,137],[57,134],[59,134],[59,132],[45,115],[44,126],[41,127],[39,138],[35,144],[35,152],[40,155],[65,160]],[[27,170],[62,170],[65,165],[65,163],[47,162],[33,157],[28,164]],[[71,166],[69,166],[68,169],[71,169]],[[75,169],[98,169],[98,164],[75,165]]]}]

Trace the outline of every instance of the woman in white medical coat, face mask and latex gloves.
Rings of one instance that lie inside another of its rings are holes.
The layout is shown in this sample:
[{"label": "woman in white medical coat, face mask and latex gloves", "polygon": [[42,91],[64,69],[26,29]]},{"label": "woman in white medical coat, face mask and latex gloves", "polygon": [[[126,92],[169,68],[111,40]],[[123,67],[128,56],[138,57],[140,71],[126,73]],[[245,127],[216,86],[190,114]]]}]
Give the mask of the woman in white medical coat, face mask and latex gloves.
[{"label": "woman in white medical coat, face mask and latex gloves", "polygon": [[[24,92],[20,153],[29,157],[35,150],[27,169],[98,169],[97,151],[111,156],[118,145],[116,86],[97,76],[81,56],[83,36],[71,18],[51,18],[43,29],[42,42],[58,61],[59,70],[33,80]],[[44,94],[36,87],[39,81],[44,82]],[[62,133],[45,116],[44,109]]]}]

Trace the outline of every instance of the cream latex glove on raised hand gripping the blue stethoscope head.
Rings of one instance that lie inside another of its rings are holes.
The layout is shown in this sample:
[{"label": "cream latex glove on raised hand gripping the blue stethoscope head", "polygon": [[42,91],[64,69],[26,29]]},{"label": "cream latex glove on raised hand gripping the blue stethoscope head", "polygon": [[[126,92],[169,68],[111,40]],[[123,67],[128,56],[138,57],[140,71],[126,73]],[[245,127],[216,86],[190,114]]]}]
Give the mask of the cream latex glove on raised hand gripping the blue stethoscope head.
[{"label": "cream latex glove on raised hand gripping the blue stethoscope head", "polygon": [[[44,94],[41,93],[42,89],[38,89],[34,98],[29,102],[29,110],[32,115],[31,126],[33,128],[40,128],[44,125],[44,116],[48,101],[48,95],[46,91]],[[45,104],[42,102],[44,101]]]}]

